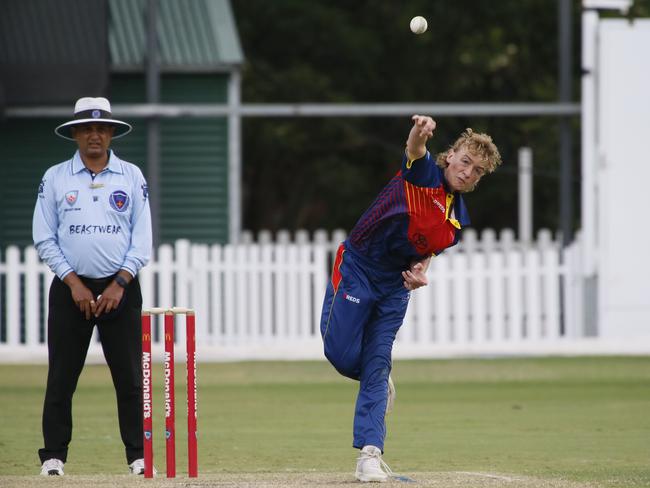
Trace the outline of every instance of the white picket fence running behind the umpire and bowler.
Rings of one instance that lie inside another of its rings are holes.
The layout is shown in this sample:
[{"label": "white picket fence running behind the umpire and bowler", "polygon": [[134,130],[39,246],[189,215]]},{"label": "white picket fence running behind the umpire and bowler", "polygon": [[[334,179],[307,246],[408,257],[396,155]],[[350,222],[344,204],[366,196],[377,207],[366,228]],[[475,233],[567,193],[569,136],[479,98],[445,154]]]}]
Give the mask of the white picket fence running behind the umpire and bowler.
[{"label": "white picket fence running behind the umpire and bowler", "polygon": [[[319,323],[332,257],[344,238],[281,232],[239,245],[163,245],[140,274],[144,307],[196,309],[203,360],[322,358]],[[432,260],[429,285],[412,293],[398,357],[562,351],[581,337],[579,246],[561,253],[549,232],[530,247],[512,231],[463,242]],[[47,358],[52,273],[32,247],[6,249],[0,262],[0,361]],[[177,337],[184,337],[178,317]],[[154,321],[154,343],[161,324]],[[154,348],[154,350],[156,350]],[[90,356],[101,356],[99,344]]]}]

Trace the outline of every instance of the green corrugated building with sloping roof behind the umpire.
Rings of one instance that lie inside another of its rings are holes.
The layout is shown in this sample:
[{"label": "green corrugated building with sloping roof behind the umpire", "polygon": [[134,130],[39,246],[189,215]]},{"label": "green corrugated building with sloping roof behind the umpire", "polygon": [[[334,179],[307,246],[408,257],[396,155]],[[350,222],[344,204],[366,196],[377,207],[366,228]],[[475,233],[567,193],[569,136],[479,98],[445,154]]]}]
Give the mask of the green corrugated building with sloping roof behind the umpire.
[{"label": "green corrugated building with sloping roof behind the umpire", "polygon": [[[147,119],[120,112],[147,102],[147,7],[147,0],[0,5],[1,248],[31,244],[40,178],[74,150],[54,127],[81,96],[108,97],[114,115],[133,125],[113,148],[150,179]],[[161,104],[229,104],[239,97],[243,55],[229,0],[157,0],[157,16]],[[16,109],[23,114],[12,115]],[[160,119],[158,187],[150,189],[159,197],[159,243],[229,240],[237,181],[230,131],[228,115]]]}]

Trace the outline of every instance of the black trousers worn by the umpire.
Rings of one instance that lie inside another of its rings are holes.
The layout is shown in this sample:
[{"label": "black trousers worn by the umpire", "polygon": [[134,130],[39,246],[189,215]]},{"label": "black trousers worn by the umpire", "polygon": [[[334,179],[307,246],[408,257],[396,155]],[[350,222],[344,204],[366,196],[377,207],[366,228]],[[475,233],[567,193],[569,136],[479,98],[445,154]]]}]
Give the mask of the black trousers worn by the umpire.
[{"label": "black trousers worn by the umpire", "polygon": [[[81,278],[95,297],[112,277]],[[72,300],[68,285],[55,277],[50,286],[48,330],[49,370],[43,406],[41,463],[50,458],[66,462],[72,439],[72,396],[86,361],[95,325],[117,396],[120,434],[127,463],[143,457],[142,448],[142,293],[137,278],[129,283],[117,313],[86,320]]]}]

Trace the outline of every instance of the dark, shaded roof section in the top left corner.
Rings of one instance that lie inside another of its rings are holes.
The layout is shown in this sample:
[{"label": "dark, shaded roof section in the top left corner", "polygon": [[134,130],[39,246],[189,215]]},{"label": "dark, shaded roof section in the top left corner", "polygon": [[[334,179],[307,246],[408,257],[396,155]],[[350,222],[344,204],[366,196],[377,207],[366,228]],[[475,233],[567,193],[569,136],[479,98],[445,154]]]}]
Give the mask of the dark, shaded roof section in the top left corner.
[{"label": "dark, shaded roof section in the top left corner", "polygon": [[3,0],[0,12],[0,110],[105,90],[107,0]]}]

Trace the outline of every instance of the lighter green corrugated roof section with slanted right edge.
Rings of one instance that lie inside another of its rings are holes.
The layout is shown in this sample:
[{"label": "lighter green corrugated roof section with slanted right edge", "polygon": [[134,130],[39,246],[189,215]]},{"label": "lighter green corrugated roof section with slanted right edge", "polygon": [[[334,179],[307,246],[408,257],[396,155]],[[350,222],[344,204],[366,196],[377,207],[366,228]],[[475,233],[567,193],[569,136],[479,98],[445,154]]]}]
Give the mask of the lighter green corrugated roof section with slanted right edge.
[{"label": "lighter green corrugated roof section with slanted right edge", "polygon": [[[147,0],[109,0],[113,71],[145,69]],[[244,60],[229,0],[158,0],[161,71],[226,71]]]}]

